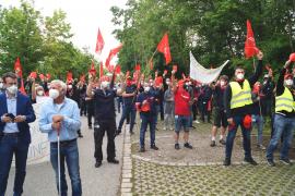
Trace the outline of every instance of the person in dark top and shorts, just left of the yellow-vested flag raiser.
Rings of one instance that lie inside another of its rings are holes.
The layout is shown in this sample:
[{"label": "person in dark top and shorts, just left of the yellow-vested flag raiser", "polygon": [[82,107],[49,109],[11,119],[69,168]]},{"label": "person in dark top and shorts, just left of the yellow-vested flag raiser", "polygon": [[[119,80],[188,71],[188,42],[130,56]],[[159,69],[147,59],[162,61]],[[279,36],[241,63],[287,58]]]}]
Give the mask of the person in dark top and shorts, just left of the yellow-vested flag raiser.
[{"label": "person in dark top and shorts, just left of the yellow-vested flag raiser", "polygon": [[227,75],[220,76],[220,82],[213,86],[213,126],[212,126],[212,137],[211,147],[216,146],[216,134],[217,128],[221,127],[220,143],[225,145],[225,132],[227,128],[227,119],[224,108],[224,91],[228,84]]}]

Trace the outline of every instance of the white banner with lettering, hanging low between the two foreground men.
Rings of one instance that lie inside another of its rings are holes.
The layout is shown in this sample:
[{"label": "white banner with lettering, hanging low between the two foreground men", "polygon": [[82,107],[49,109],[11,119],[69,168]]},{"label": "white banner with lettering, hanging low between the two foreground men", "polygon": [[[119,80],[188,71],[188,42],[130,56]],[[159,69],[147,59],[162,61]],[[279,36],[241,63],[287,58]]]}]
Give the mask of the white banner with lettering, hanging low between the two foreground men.
[{"label": "white banner with lettering, hanging low between the two foreground men", "polygon": [[30,124],[32,143],[28,148],[27,164],[49,161],[49,142],[47,134],[39,131],[39,112],[43,102],[33,105],[36,121]]}]

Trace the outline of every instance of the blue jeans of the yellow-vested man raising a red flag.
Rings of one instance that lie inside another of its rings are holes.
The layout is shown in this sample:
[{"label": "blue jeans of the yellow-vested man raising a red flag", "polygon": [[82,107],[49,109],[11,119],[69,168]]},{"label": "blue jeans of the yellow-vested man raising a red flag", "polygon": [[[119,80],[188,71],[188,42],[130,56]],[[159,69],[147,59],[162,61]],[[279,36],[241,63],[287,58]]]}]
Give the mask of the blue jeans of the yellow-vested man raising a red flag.
[{"label": "blue jeans of the yellow-vested man raising a red flag", "polygon": [[244,117],[234,117],[234,125],[228,125],[228,134],[226,137],[226,148],[225,148],[225,158],[232,158],[232,151],[234,146],[234,140],[236,137],[237,128],[240,125],[243,134],[243,147],[245,150],[245,159],[251,158],[251,127],[246,128],[243,124]]}]

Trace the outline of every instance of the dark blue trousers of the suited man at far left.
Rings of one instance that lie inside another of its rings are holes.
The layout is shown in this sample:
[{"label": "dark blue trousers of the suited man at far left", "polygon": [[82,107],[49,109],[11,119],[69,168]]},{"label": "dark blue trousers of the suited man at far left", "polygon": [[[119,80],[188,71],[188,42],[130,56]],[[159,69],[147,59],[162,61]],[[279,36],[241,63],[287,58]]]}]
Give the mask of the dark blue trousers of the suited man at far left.
[{"label": "dark blue trousers of the suited man at far left", "polygon": [[17,136],[3,136],[0,139],[0,196],[5,195],[13,154],[15,155],[15,177],[13,195],[22,195],[26,174],[27,151],[28,144],[22,143]]}]

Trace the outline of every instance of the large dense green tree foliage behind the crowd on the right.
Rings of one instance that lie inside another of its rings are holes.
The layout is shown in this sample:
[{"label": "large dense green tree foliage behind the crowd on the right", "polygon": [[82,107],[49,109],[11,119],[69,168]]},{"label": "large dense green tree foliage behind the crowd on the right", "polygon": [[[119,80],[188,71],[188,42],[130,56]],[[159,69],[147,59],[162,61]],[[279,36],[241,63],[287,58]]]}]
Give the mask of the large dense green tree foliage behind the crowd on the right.
[{"label": "large dense green tree foliage behind the crowd on the right", "polygon": [[[111,8],[114,32],[125,44],[119,53],[123,70],[135,62],[145,65],[164,33],[168,32],[173,57],[180,72],[189,72],[189,51],[206,68],[231,59],[225,73],[237,64],[252,70],[252,60],[244,58],[246,21],[250,20],[257,46],[264,52],[264,62],[276,71],[295,44],[294,0],[129,0],[126,9]],[[164,65],[156,52],[155,69]]]}]

